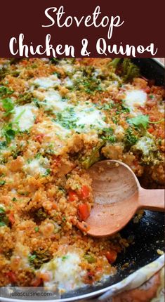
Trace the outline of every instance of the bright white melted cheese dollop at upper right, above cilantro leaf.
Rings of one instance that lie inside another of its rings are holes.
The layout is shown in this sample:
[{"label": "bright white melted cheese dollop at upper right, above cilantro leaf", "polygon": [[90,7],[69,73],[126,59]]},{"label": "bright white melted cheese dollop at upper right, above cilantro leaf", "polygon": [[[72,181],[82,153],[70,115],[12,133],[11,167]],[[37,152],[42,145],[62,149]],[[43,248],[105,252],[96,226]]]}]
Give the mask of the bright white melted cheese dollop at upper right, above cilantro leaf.
[{"label": "bright white melted cheese dollop at upper right, above cilantro leaf", "polygon": [[129,110],[135,113],[138,106],[145,106],[147,100],[147,93],[143,90],[130,90],[126,91],[125,104]]}]

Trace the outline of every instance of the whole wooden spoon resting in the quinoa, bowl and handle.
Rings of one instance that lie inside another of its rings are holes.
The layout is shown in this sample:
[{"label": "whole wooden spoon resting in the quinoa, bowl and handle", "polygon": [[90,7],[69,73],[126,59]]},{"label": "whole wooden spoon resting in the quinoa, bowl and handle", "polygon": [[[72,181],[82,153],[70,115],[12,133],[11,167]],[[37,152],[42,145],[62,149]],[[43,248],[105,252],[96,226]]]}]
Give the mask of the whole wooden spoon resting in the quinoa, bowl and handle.
[{"label": "whole wooden spoon resting in the quinoa, bowl and handle", "polygon": [[93,179],[94,205],[86,220],[88,235],[103,237],[124,228],[138,209],[164,211],[164,190],[145,190],[133,171],[116,160],[88,170]]}]

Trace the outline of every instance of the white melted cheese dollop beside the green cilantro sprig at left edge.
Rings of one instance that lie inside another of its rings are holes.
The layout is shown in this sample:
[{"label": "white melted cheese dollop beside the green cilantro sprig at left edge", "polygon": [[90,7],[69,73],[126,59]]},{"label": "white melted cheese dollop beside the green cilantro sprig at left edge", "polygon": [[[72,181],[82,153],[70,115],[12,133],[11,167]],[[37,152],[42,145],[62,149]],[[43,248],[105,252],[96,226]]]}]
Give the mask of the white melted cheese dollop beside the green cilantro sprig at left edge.
[{"label": "white melted cheese dollop beside the green cilantro sprig at left edge", "polygon": [[34,124],[35,114],[37,114],[37,107],[26,104],[15,107],[15,114],[13,115],[13,122],[18,122],[20,131],[25,131],[31,128]]}]

